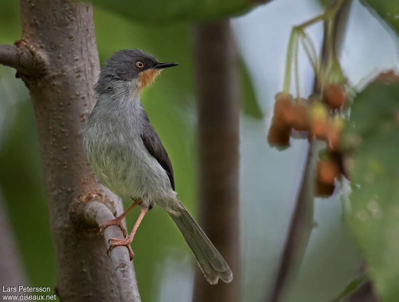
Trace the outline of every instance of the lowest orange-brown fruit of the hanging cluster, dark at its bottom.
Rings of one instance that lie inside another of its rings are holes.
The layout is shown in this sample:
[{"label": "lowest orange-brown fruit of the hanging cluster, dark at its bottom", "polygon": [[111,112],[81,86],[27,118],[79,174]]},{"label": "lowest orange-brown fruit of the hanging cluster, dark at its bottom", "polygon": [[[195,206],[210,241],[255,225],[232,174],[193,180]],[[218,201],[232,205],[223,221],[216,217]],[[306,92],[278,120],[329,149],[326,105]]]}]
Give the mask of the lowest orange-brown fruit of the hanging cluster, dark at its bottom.
[{"label": "lowest orange-brown fruit of the hanging cluster, dark at its bottom", "polygon": [[341,179],[341,169],[335,160],[317,162],[316,196],[330,196],[334,191],[334,179]]}]

